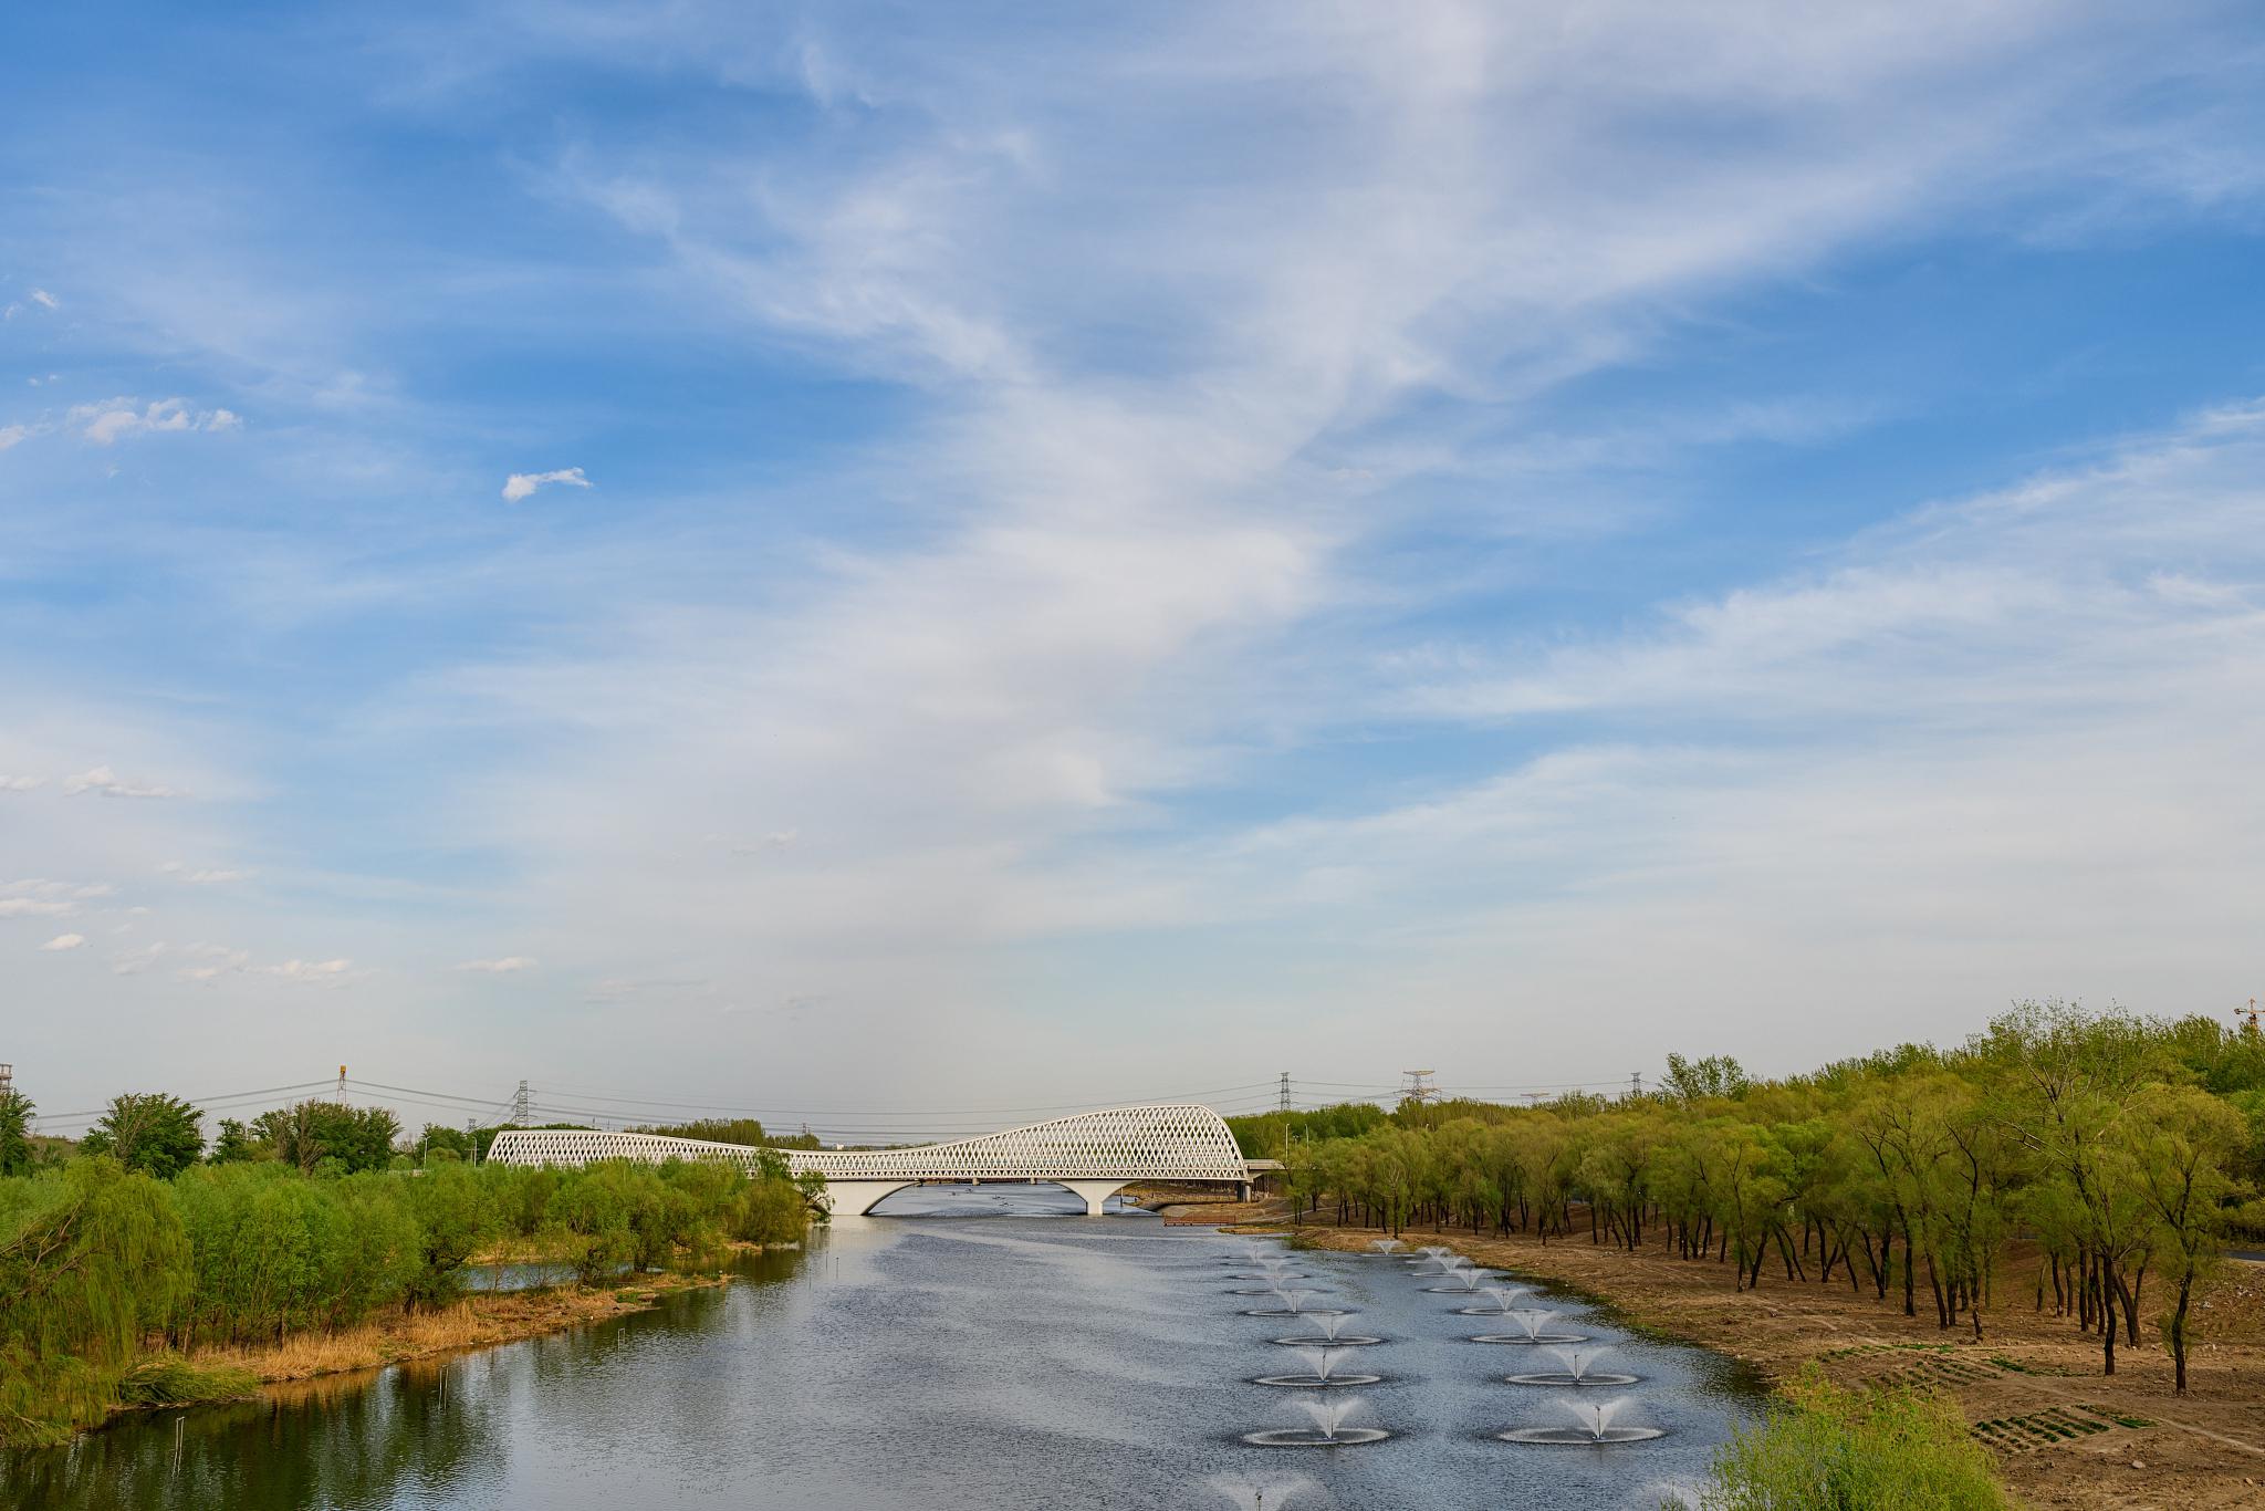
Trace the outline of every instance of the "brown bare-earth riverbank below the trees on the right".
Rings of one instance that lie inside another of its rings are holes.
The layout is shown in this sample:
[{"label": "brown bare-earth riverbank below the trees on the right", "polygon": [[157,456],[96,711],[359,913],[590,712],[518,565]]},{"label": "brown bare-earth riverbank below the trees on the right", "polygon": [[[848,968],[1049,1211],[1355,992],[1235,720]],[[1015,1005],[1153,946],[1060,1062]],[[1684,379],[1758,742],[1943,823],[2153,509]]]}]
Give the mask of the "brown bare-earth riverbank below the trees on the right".
[{"label": "brown bare-earth riverbank below the trees on the right", "polygon": [[[1259,1230],[1246,1223],[1243,1230]],[[1339,1250],[1366,1250],[1373,1228],[1275,1212],[1264,1230]],[[1817,1361],[1837,1384],[1918,1386],[1957,1402],[1991,1445],[2007,1486],[2029,1506],[2068,1511],[2217,1511],[2265,1504],[2265,1269],[2229,1264],[2206,1296],[2193,1391],[2172,1393],[2170,1359],[2147,1337],[2100,1375],[2100,1346],[2050,1309],[2032,1309],[2016,1255],[1984,1312],[1984,1339],[1907,1318],[1871,1289],[1762,1278],[1737,1291],[1724,1264],[1626,1253],[1586,1237],[1542,1244],[1470,1230],[1409,1228],[1407,1244],[1450,1244],[1477,1264],[1592,1294],[1629,1321],[1701,1343],[1783,1382]]]}]

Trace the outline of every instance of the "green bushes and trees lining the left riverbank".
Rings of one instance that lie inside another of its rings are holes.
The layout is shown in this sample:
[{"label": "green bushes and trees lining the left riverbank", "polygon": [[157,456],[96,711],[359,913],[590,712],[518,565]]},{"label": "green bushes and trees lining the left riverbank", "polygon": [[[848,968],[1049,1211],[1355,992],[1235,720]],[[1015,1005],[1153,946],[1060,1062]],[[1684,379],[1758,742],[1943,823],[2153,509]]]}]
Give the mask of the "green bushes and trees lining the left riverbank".
[{"label": "green bushes and trees lining the left riverbank", "polygon": [[197,1108],[163,1094],[116,1099],[63,1155],[27,1117],[0,1103],[0,1445],[100,1423],[152,1359],[451,1305],[496,1241],[605,1282],[800,1241],[818,1210],[777,1155],[473,1167],[421,1139],[417,1167],[390,1112],[322,1101],[224,1121],[208,1151]]}]

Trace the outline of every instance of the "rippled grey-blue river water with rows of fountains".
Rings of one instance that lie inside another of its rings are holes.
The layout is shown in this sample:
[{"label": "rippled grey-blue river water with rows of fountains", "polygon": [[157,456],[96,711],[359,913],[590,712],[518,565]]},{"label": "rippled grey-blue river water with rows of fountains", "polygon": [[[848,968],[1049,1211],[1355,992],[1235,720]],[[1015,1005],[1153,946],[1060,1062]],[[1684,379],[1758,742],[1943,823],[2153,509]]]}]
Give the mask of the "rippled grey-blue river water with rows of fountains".
[{"label": "rippled grey-blue river water with rows of fountains", "polygon": [[[1561,1328],[1613,1343],[1640,1375],[1619,1423],[1651,1443],[1538,1448],[1506,1427],[1570,1425],[1574,1391],[1504,1384],[1552,1368],[1459,1316],[1402,1260],[1300,1253],[1291,1264],[1386,1343],[1339,1371],[1386,1380],[1354,1425],[1384,1443],[1253,1448],[1302,1425],[1300,1373],[1241,1316],[1239,1248],[1153,1217],[1099,1221],[1053,1187],[931,1187],[895,1217],[849,1219],[806,1255],[763,1255],[743,1282],[596,1328],[446,1361],[317,1382],[240,1407],[127,1420],[70,1450],[0,1466],[0,1504],[52,1511],[285,1506],[555,1511],[872,1511],[1078,1506],[1436,1509],[1656,1506],[1703,1472],[1753,1398],[1715,1355],[1631,1339],[1581,1303]],[[1484,1298],[1477,1298],[1484,1305]],[[1533,1305],[1533,1303],[1524,1303]],[[1243,1493],[1237,1502],[1234,1493]]]}]

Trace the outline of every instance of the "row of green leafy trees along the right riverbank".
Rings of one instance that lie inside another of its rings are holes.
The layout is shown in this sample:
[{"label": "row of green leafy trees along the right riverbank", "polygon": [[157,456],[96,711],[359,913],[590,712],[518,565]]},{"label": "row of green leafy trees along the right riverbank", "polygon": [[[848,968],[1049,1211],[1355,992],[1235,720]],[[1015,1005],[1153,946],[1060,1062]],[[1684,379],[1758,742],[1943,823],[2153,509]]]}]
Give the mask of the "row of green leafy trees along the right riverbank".
[{"label": "row of green leafy trees along the right riverbank", "polygon": [[[1366,1130],[1348,1119],[1375,1117]],[[1669,1056],[1653,1090],[1536,1108],[1402,1103],[1230,1119],[1289,1153],[1293,1212],[1400,1232],[1465,1226],[1665,1250],[1740,1289],[1846,1284],[1982,1337],[2011,1284],[2140,1346],[2149,1284],[2186,1389],[2197,1287],[2226,1237],[2265,1228],[2265,1038],[2027,1004],[1966,1044],[1905,1044],[1751,1081]],[[2009,1255],[2034,1255],[2018,1275]]]}]

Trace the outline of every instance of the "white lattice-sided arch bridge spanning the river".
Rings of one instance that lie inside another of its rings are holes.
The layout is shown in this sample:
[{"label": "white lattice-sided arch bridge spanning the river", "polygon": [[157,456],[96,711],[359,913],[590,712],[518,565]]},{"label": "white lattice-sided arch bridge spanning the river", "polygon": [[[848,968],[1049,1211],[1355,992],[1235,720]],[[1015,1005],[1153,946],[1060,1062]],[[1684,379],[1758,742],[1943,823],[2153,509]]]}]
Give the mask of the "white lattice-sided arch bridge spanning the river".
[{"label": "white lattice-sided arch bridge spanning the river", "polygon": [[827,1207],[838,1217],[863,1217],[890,1192],[922,1180],[1051,1180],[1076,1192],[1087,1217],[1099,1217],[1101,1203],[1135,1180],[1250,1185],[1250,1167],[1225,1119],[1191,1101],[1078,1112],[978,1139],[906,1149],[754,1149],[661,1133],[505,1128],[487,1151],[503,1164],[725,1160],[747,1171],[763,1155],[784,1155],[795,1173],[824,1176]]}]

